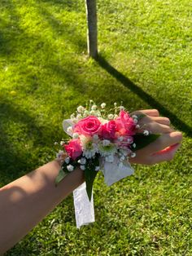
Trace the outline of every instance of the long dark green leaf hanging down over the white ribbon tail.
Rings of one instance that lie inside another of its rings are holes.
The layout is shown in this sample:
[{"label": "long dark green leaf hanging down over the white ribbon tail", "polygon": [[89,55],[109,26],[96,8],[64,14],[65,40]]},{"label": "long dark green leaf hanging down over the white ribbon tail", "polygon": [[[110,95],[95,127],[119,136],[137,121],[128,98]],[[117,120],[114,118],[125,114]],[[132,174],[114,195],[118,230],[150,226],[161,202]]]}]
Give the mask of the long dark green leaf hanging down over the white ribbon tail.
[{"label": "long dark green leaf hanging down over the white ribbon tail", "polygon": [[94,159],[87,160],[85,165],[85,183],[89,201],[91,200],[94,179],[98,174],[98,171],[95,170],[95,166],[99,166],[98,156]]}]

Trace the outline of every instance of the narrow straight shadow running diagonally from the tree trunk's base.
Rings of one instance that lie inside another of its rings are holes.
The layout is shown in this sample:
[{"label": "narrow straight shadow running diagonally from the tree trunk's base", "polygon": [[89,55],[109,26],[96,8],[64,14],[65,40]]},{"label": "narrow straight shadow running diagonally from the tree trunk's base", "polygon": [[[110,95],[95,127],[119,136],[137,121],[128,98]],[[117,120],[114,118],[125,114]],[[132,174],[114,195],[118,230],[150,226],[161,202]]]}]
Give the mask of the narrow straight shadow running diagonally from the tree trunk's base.
[{"label": "narrow straight shadow running diagonally from the tree trunk's base", "polygon": [[173,126],[175,126],[178,130],[185,132],[187,136],[192,138],[192,127],[188,126],[187,124],[185,124],[185,122],[181,121],[181,119],[178,118],[174,113],[172,113],[168,108],[165,108],[151,95],[146,93],[144,90],[142,90],[142,88],[135,85],[131,80],[129,80],[128,77],[125,77],[116,68],[111,66],[111,64],[109,64],[107,60],[103,58],[102,55],[98,55],[98,57],[95,60],[102,68],[104,68],[107,71],[107,73],[110,73],[112,77],[115,77],[116,80],[118,80],[124,86],[129,88],[129,90],[132,90],[134,94],[143,99],[147,104],[151,106],[151,108],[159,109],[159,113],[161,113],[165,117],[170,118]]}]

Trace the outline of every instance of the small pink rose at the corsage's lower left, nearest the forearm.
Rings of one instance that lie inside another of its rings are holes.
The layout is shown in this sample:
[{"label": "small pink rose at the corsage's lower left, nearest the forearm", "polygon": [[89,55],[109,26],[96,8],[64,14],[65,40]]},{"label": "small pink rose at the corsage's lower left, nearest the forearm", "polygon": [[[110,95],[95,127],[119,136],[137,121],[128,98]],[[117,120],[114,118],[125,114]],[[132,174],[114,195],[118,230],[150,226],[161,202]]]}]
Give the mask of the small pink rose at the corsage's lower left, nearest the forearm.
[{"label": "small pink rose at the corsage's lower left, nearest the forearm", "polygon": [[80,157],[82,153],[80,139],[71,139],[67,145],[63,146],[68,153],[69,157],[76,160],[76,157]]}]

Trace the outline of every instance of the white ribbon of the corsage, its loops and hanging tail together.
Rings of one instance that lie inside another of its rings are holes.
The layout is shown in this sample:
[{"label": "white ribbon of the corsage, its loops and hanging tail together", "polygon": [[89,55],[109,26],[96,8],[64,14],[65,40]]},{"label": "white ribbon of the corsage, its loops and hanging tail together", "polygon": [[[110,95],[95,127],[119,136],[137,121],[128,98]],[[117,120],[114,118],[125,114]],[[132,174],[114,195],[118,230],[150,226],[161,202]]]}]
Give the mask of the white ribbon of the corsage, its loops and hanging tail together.
[{"label": "white ribbon of the corsage, its loops and hanging tail together", "polygon": [[[69,126],[73,126],[72,121],[70,119],[64,120],[63,130],[68,135],[72,136],[72,134],[68,132]],[[114,162],[110,163],[104,161],[102,166],[105,183],[107,183],[108,186],[111,186],[111,184],[116,183],[120,179],[123,179],[134,172],[128,161],[120,162],[117,156],[114,157]],[[76,227],[80,228],[82,225],[93,223],[94,198],[92,194],[91,201],[89,201],[85,183],[81,184],[81,186],[73,191],[73,201],[76,214]]]}]

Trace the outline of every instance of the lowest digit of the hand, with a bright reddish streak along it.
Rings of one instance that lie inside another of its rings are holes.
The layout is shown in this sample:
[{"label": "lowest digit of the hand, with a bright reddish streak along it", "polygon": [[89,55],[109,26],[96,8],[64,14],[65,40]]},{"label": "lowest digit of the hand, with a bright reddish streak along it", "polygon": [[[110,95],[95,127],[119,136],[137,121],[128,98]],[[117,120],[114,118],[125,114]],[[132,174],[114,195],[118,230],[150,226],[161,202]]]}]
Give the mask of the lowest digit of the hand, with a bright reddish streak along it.
[{"label": "lowest digit of the hand, with a bright reddish streak along it", "polygon": [[150,158],[151,164],[158,164],[162,161],[171,161],[177,152],[178,148],[181,147],[181,143],[172,145],[171,147],[165,148],[164,150],[153,154]]}]

